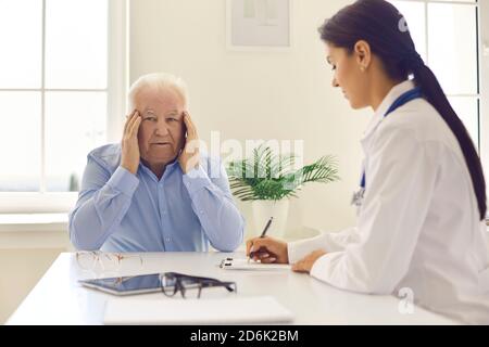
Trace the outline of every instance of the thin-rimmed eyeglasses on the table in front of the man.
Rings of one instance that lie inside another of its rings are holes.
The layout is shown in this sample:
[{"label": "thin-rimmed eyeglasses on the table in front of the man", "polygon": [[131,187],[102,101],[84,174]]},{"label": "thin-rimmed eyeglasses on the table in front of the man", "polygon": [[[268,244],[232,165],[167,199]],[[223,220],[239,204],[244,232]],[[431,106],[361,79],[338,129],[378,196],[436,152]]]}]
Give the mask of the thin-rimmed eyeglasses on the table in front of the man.
[{"label": "thin-rimmed eyeglasses on the table in front of the man", "polygon": [[76,262],[84,270],[117,270],[121,265],[142,266],[142,258],[137,254],[105,253],[100,250],[77,252]]}]

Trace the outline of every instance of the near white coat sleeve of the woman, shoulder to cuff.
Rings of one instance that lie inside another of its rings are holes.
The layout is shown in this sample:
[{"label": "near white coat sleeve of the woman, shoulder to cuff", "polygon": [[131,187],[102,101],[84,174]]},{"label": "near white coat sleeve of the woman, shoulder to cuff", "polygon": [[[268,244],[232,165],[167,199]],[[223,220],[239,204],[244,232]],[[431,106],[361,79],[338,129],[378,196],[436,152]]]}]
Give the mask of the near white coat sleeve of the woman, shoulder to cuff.
[{"label": "near white coat sleeve of the woman, shoulder to cuff", "polygon": [[413,130],[383,129],[366,165],[360,242],[318,258],[311,275],[336,287],[391,294],[408,272],[436,182],[441,144]]}]

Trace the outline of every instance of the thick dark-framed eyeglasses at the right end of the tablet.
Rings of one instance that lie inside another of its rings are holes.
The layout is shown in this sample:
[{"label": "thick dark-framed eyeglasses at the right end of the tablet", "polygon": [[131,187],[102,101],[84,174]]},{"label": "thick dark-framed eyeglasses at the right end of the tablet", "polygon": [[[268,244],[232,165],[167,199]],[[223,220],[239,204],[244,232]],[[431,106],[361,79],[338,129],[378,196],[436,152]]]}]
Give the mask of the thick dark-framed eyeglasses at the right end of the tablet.
[{"label": "thick dark-framed eyeglasses at the right end of the tablet", "polygon": [[180,292],[184,298],[200,298],[202,290],[209,287],[225,287],[229,293],[237,293],[236,282],[222,282],[211,278],[200,278],[177,272],[160,274],[161,290],[164,295],[172,297]]}]

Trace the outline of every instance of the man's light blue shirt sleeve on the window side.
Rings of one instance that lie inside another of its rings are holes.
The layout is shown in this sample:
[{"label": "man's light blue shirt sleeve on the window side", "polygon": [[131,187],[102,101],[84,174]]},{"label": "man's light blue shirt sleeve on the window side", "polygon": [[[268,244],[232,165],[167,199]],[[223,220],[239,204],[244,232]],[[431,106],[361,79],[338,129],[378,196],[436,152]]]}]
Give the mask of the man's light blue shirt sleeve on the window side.
[{"label": "man's light blue shirt sleeve on the window side", "polygon": [[77,249],[100,249],[129,209],[139,179],[123,167],[112,176],[89,156],[75,208],[68,216],[70,239]]}]

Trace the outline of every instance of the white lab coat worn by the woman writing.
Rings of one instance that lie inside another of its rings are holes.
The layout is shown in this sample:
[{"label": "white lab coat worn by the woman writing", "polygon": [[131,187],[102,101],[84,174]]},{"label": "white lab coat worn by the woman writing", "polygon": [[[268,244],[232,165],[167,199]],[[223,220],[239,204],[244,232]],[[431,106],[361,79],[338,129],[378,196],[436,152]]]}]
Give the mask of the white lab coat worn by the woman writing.
[{"label": "white lab coat worn by the woman writing", "polygon": [[321,281],[368,294],[406,287],[419,306],[489,323],[486,224],[454,134],[423,99],[384,118],[412,88],[392,88],[362,139],[366,192],[358,227],[289,243],[289,261],[321,248],[327,254],[311,270]]}]

